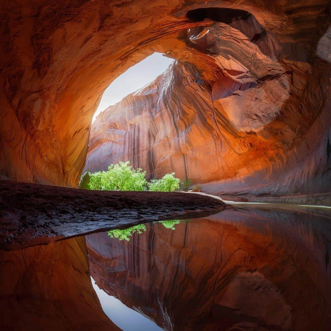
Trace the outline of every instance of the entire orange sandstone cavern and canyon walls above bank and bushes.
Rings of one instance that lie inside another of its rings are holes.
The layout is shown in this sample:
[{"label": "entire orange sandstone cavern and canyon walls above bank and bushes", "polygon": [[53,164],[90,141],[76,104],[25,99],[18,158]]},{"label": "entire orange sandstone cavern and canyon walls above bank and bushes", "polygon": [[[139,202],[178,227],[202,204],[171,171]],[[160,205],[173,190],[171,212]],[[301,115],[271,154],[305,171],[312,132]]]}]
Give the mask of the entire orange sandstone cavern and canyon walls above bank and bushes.
[{"label": "entire orange sandstone cavern and canyon walls above bank and bushes", "polygon": [[[122,102],[127,122],[116,107],[113,119],[110,111],[98,118],[88,167],[101,168],[104,151],[118,160],[122,148],[135,166],[146,159],[155,176],[173,168],[207,183],[209,192],[325,196],[328,6],[328,0],[1,4],[1,178],[74,186],[102,92],[158,51],[179,64]],[[111,149],[115,143],[122,147]]]}]

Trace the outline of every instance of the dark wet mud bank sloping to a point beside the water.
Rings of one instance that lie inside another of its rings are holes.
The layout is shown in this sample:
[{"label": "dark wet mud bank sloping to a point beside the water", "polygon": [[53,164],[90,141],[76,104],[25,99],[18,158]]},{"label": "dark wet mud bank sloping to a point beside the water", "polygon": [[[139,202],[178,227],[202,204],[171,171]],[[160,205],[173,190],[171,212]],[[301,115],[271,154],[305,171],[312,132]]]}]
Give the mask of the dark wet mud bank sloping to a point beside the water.
[{"label": "dark wet mud bank sloping to a point beside the water", "polygon": [[91,191],[0,181],[0,249],[129,224],[216,213],[222,201],[178,192]]}]

